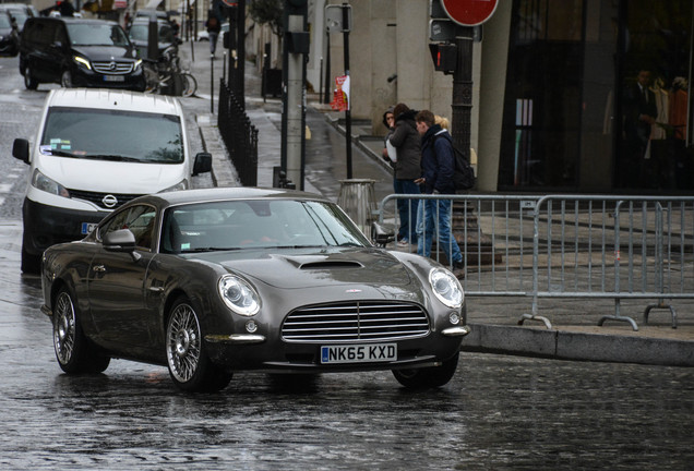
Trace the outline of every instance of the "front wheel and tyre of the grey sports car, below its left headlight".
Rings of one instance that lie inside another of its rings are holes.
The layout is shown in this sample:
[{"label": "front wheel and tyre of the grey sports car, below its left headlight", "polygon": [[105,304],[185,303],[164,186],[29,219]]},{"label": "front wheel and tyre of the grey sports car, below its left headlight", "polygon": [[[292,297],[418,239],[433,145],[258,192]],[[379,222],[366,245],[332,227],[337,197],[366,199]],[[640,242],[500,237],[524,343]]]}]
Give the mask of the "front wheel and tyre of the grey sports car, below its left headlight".
[{"label": "front wheel and tyre of the grey sports car, below its left headlight", "polygon": [[207,357],[198,314],[186,298],[174,303],[168,317],[166,358],[169,375],[180,389],[214,392],[231,381],[231,373],[216,366]]}]

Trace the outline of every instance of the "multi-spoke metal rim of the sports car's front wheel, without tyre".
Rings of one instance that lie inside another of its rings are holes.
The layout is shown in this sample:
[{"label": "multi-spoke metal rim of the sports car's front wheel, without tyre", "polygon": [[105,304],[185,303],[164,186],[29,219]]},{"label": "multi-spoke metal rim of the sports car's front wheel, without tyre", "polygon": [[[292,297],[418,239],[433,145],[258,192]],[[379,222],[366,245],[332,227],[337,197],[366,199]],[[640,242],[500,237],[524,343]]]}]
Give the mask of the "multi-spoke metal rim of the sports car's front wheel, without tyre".
[{"label": "multi-spoke metal rim of the sports car's front wheel, without tyre", "polygon": [[171,375],[180,383],[191,381],[200,366],[202,339],[198,316],[188,303],[180,303],[174,309],[166,345]]}]

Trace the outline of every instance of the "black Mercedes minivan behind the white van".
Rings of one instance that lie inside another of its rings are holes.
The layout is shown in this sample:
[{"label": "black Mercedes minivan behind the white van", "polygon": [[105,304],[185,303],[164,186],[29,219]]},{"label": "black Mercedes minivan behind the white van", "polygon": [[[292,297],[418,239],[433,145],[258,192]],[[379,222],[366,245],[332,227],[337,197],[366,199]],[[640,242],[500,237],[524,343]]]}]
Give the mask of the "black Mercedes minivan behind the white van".
[{"label": "black Mercedes minivan behind the white van", "polygon": [[142,60],[116,22],[74,17],[31,17],[20,44],[26,88],[59,83],[65,88],[145,89]]}]

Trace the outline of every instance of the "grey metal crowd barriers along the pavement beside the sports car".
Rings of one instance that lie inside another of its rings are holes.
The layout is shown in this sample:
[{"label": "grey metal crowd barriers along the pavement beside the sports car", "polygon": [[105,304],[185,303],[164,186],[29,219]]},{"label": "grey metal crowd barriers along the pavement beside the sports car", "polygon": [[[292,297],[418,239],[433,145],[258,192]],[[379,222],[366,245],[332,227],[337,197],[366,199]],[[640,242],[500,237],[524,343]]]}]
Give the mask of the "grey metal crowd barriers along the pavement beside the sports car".
[{"label": "grey metal crowd barriers along the pavement beside the sports car", "polygon": [[[625,299],[654,300],[654,309],[694,299],[694,197],[588,195],[388,195],[376,216],[395,214],[395,203],[452,200],[452,227],[464,256],[462,283],[467,297],[530,299],[525,321],[540,316],[549,298],[608,299],[614,314],[599,319],[631,324],[621,313]],[[386,212],[388,205],[393,205]],[[412,221],[411,225],[415,222]],[[414,250],[414,247],[412,247]],[[441,251],[432,258],[448,266]]]}]

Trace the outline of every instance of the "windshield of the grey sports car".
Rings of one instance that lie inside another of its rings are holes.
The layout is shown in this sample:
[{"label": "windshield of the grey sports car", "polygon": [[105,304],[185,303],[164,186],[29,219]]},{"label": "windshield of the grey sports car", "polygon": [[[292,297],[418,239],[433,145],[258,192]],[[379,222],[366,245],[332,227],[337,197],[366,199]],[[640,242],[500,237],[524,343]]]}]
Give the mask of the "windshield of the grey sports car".
[{"label": "windshield of the grey sports car", "polygon": [[160,251],[370,246],[334,204],[294,200],[196,203],[167,209]]}]

